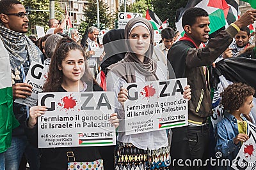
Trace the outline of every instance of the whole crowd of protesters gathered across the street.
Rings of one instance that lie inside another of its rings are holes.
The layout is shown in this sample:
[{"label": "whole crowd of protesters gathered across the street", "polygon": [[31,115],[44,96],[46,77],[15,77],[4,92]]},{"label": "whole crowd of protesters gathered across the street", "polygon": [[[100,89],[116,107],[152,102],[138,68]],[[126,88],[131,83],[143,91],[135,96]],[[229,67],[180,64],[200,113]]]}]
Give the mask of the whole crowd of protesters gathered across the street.
[{"label": "whole crowd of protesters gathered across the street", "polygon": [[[211,153],[215,150],[222,153],[221,159],[231,161],[249,139],[248,124],[255,124],[250,113],[255,96],[253,87],[244,82],[228,85],[220,94],[223,118],[214,128],[210,119],[211,92],[216,87],[214,73],[221,75],[216,67],[228,64],[227,60],[241,63],[241,58],[246,58],[252,63],[256,59],[255,40],[249,41],[247,27],[255,22],[256,10],[246,11],[209,39],[209,14],[202,8],[190,8],[182,17],[183,37],[178,38],[179,31],[166,27],[161,31],[161,43],[156,46],[153,27],[145,18],[132,18],[125,29],[110,30],[102,44],[99,29],[93,26],[83,37],[77,29],[71,29],[68,37],[67,20],[67,16],[62,22],[51,19],[44,37],[28,37],[29,17],[22,3],[0,1],[0,60],[11,67],[13,99],[8,104],[11,112],[3,107],[0,110],[0,170],[24,169],[26,165],[20,164],[22,157],[31,170],[70,169],[70,150],[79,162],[104,160],[97,169],[232,169],[210,164],[181,166],[173,160],[207,162],[210,157],[215,158]],[[43,92],[114,92],[115,113],[110,115],[109,122],[116,128],[116,146],[38,148],[37,120],[47,108],[29,108],[14,102],[31,96],[33,87],[24,80],[32,61],[49,65]],[[124,103],[129,92],[124,84],[172,78],[188,80],[183,89],[183,97],[188,100],[188,125],[125,134]],[[6,105],[0,101],[1,106]]]}]

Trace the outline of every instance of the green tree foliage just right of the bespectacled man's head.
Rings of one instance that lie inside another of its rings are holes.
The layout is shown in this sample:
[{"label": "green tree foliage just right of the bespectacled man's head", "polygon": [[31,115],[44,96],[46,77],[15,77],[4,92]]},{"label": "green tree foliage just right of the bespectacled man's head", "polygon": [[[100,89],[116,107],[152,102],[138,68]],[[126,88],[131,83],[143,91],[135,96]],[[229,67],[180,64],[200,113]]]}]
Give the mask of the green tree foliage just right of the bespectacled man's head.
[{"label": "green tree foliage just right of the bespectacled man's head", "polygon": [[[25,8],[29,8],[30,10],[49,10],[49,0],[24,0],[22,1]],[[65,12],[60,8],[60,3],[58,0],[55,0],[55,10],[60,11],[65,15]],[[29,11],[29,24],[30,28],[35,28],[35,25],[39,25],[45,27],[45,31],[49,29],[48,20],[50,13],[49,11]],[[63,17],[60,13],[55,12],[55,18],[58,20],[63,20]],[[29,29],[28,34],[35,34]]]}]

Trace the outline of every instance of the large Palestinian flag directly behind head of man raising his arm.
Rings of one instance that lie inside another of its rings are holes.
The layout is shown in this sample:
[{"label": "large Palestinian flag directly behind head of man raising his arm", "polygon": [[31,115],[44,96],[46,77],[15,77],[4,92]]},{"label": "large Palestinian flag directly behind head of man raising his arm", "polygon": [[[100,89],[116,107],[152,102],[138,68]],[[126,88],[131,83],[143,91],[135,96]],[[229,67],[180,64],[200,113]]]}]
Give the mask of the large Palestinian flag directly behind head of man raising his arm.
[{"label": "large Palestinian flag directly behind head of man raising his arm", "polygon": [[182,32],[182,36],[185,33],[182,28],[182,15],[189,8],[198,7],[203,8],[209,13],[209,25],[212,34],[220,29],[228,27],[232,22],[236,21],[239,13],[238,4],[234,0],[195,0],[188,1],[185,8],[180,8],[176,13],[176,28],[179,32]]}]

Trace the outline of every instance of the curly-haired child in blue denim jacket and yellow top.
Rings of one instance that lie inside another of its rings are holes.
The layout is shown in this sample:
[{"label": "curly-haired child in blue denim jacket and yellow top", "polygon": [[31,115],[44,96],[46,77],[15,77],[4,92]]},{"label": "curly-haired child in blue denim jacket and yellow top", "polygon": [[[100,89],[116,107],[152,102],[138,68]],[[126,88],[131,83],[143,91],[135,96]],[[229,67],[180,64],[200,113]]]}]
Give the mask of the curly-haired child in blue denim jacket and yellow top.
[{"label": "curly-haired child in blue denim jacket and yellow top", "polygon": [[[243,142],[249,139],[248,124],[243,115],[249,115],[252,110],[253,94],[255,90],[244,83],[228,85],[221,93],[225,113],[223,120],[215,128],[215,150],[222,153],[221,159],[230,160],[230,166]],[[232,169],[230,166],[222,165],[217,169]]]}]

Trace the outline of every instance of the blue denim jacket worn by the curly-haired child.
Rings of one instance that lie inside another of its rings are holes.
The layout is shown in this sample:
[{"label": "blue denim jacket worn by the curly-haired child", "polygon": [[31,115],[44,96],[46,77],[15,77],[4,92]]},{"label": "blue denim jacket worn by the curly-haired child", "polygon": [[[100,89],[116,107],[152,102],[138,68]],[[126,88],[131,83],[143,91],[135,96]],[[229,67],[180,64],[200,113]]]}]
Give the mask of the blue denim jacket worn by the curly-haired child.
[{"label": "blue denim jacket worn by the curly-haired child", "polygon": [[[246,120],[244,117],[242,117],[242,119]],[[241,148],[241,142],[239,142],[238,145],[235,145],[233,141],[237,134],[239,134],[237,119],[228,111],[225,111],[224,118],[215,127],[215,151],[222,153],[221,159],[229,159],[230,166],[232,160],[236,158],[236,155]]]}]

